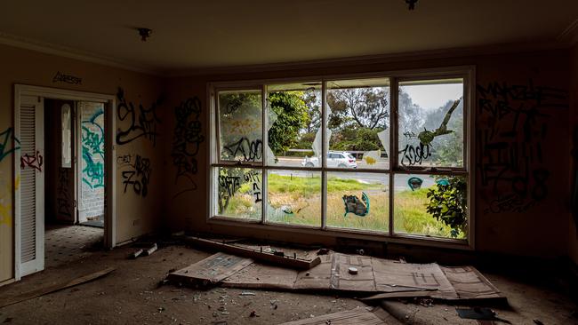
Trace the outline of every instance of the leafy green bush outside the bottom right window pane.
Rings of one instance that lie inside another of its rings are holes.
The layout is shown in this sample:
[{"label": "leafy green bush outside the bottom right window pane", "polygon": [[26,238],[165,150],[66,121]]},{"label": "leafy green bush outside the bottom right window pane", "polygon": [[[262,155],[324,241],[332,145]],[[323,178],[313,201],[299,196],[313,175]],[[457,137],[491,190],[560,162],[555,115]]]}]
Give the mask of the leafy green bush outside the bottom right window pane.
[{"label": "leafy green bush outside the bottom right window pane", "polygon": [[[439,177],[438,180],[442,179]],[[468,195],[466,179],[461,176],[443,177],[446,182],[438,182],[428,190],[428,213],[447,226],[452,227],[452,236],[468,229]]]}]

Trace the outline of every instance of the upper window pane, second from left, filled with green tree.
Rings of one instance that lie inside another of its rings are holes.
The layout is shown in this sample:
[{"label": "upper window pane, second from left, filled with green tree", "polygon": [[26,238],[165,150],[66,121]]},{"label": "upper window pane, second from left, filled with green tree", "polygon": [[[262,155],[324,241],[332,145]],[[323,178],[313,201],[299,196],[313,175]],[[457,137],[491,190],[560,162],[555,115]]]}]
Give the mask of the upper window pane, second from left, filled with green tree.
[{"label": "upper window pane, second from left, filled with green tree", "polygon": [[268,164],[320,167],[321,83],[268,86]]}]

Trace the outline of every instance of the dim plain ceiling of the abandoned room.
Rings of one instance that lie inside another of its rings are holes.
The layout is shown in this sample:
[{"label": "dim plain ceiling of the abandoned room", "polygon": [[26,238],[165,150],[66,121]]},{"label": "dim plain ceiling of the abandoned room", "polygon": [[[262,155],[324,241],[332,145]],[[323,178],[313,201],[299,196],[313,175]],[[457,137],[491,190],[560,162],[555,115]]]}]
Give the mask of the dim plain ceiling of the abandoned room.
[{"label": "dim plain ceiling of the abandoned room", "polygon": [[576,19],[576,0],[18,0],[0,4],[0,36],[172,73],[555,42]]}]

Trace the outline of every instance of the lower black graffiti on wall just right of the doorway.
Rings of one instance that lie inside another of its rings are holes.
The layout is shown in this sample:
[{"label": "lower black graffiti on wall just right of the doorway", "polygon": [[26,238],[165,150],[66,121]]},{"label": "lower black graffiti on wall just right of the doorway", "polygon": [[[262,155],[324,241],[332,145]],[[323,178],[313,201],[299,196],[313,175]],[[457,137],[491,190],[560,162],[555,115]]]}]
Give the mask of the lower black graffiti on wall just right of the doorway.
[{"label": "lower black graffiti on wall just right of the doorway", "polygon": [[134,155],[134,159],[132,159],[132,155],[122,155],[116,157],[116,163],[121,168],[128,169],[122,172],[124,193],[129,187],[132,187],[135,194],[146,197],[149,193],[150,173],[152,172],[149,158]]}]

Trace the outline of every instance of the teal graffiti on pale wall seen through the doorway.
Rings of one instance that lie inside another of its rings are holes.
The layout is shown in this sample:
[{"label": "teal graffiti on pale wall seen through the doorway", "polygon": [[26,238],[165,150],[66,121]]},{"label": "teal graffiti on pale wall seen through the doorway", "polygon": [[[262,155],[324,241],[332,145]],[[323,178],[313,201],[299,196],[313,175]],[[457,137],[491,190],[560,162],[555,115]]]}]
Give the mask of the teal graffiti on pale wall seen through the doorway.
[{"label": "teal graffiti on pale wall seen through the doorway", "polygon": [[91,188],[104,186],[104,111],[98,109],[82,122],[83,182]]}]

